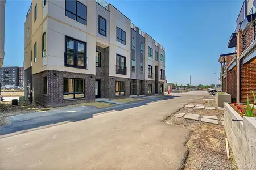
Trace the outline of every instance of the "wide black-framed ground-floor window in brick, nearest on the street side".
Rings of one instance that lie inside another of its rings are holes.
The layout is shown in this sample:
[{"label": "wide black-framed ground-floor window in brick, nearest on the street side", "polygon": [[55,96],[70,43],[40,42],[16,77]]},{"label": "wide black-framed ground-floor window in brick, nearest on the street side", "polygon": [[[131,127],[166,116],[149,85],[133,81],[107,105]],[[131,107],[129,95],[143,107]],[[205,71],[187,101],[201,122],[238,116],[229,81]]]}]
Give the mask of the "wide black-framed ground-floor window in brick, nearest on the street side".
[{"label": "wide black-framed ground-floor window in brick, nearest on the street side", "polygon": [[84,98],[84,79],[64,78],[63,99]]}]

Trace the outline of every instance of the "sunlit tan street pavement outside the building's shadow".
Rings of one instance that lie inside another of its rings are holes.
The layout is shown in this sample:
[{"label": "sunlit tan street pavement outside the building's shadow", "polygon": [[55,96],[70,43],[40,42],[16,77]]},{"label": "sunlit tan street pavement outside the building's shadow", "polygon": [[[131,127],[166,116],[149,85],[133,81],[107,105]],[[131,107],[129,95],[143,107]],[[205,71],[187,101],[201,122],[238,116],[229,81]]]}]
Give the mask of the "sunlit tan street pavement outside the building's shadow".
[{"label": "sunlit tan street pavement outside the building's shadow", "polygon": [[173,94],[0,139],[0,169],[179,169],[189,130],[162,121],[205,91]]}]

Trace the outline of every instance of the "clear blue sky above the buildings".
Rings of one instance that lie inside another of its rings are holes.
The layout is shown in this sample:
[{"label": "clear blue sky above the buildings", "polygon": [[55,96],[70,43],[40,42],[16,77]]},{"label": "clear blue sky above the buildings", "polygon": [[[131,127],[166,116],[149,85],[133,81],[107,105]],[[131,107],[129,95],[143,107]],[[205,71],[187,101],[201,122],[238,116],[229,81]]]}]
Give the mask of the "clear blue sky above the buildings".
[{"label": "clear blue sky above the buildings", "polygon": [[[0,0],[1,1],[1,0]],[[57,0],[64,1],[64,0]],[[216,84],[243,1],[107,0],[166,49],[166,79]],[[23,66],[24,22],[31,1],[6,0],[3,66]],[[90,17],[90,16],[88,16]],[[93,16],[94,17],[94,16]]]}]

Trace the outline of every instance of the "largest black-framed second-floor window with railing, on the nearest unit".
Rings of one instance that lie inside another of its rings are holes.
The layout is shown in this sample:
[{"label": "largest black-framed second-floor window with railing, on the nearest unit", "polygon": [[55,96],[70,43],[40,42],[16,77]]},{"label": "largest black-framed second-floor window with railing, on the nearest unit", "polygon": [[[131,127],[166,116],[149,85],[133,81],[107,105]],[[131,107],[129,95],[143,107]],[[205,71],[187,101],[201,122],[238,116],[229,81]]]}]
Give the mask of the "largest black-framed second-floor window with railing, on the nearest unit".
[{"label": "largest black-framed second-floor window with railing, on the nearest unit", "polygon": [[85,42],[66,37],[65,66],[88,69]]}]

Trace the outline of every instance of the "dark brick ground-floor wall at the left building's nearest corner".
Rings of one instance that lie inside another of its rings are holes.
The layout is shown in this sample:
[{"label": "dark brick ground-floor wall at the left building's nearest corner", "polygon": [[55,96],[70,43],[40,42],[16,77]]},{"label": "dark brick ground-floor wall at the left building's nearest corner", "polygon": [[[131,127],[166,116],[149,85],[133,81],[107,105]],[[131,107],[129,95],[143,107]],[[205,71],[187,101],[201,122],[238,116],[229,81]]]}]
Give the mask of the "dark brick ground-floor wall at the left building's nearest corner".
[{"label": "dark brick ground-floor wall at the left building's nearest corner", "polygon": [[[43,95],[43,78],[47,77],[48,92]],[[85,80],[85,98],[63,100],[63,78],[80,78]],[[32,75],[33,101],[46,107],[79,104],[95,101],[95,75],[47,70]]]}]

